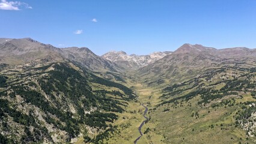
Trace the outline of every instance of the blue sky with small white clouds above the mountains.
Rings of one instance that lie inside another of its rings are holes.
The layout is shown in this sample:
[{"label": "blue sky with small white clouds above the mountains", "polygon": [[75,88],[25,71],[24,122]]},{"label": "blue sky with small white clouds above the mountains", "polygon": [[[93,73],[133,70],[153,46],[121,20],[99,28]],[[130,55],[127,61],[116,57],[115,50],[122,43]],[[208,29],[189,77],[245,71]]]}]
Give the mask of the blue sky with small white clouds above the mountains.
[{"label": "blue sky with small white clouds above the mountains", "polygon": [[147,55],[184,43],[256,48],[255,0],[0,0],[0,37],[97,55]]}]

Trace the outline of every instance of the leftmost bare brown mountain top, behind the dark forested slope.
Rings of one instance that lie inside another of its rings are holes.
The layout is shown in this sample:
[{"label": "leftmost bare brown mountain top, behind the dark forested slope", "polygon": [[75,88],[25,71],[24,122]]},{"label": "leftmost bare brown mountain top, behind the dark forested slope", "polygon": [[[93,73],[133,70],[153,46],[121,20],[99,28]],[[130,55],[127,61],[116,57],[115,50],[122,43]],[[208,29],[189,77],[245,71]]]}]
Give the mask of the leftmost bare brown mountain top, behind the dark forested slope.
[{"label": "leftmost bare brown mountain top, behind the dark forested slope", "polygon": [[61,61],[64,57],[60,52],[50,44],[39,43],[31,38],[0,38],[0,63],[22,64],[39,58]]}]

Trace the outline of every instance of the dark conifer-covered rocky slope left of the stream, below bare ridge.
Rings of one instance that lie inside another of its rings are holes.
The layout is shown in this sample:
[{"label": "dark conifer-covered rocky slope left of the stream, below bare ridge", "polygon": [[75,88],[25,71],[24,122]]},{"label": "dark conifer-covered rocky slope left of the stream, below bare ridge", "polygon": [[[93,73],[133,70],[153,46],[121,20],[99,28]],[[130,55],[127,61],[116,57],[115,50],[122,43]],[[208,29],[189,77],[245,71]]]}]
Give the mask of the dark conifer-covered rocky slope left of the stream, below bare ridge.
[{"label": "dark conifer-covered rocky slope left of the stream, below bare ridge", "polygon": [[66,143],[81,136],[99,143],[135,98],[126,86],[71,62],[6,66],[0,87],[1,136],[10,143]]}]

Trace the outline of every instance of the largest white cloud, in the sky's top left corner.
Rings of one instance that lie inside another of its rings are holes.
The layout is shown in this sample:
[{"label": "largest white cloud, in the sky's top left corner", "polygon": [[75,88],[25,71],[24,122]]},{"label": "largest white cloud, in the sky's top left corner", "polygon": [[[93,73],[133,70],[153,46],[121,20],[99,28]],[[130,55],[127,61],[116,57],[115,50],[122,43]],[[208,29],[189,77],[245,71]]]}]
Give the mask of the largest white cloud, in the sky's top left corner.
[{"label": "largest white cloud, in the sky's top left corner", "polygon": [[20,8],[32,9],[32,7],[26,4],[25,2],[19,2],[19,1],[8,2],[6,0],[1,0],[0,2],[0,10],[20,10]]}]

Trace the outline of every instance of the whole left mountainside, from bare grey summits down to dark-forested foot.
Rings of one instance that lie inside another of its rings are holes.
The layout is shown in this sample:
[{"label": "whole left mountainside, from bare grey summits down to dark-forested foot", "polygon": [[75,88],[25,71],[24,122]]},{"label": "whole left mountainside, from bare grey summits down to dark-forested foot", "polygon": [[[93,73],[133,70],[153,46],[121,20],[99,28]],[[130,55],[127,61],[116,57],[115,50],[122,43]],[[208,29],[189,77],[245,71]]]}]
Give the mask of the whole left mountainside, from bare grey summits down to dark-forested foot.
[{"label": "whole left mountainside, from bare grey summits down to dark-forested foot", "polygon": [[0,143],[100,143],[136,101],[112,63],[87,48],[5,38],[0,50]]}]

